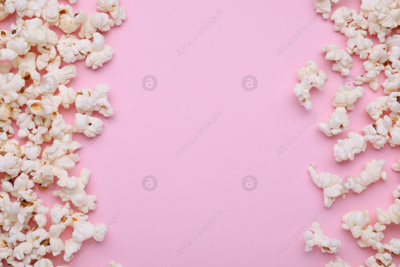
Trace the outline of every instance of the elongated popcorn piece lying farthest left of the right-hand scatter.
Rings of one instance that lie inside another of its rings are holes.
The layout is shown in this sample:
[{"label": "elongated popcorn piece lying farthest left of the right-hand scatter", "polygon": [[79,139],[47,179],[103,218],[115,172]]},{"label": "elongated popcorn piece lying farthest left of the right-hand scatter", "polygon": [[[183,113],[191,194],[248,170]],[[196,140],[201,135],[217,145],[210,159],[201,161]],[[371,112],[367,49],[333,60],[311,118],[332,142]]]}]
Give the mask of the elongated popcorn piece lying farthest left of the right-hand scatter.
[{"label": "elongated popcorn piece lying farthest left of the right-hand scatter", "polygon": [[307,67],[300,68],[297,72],[297,78],[301,81],[294,87],[294,94],[306,110],[312,108],[310,101],[310,89],[316,87],[324,89],[325,81],[328,76],[323,70],[318,70],[317,64],[311,59],[307,62]]}]

